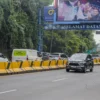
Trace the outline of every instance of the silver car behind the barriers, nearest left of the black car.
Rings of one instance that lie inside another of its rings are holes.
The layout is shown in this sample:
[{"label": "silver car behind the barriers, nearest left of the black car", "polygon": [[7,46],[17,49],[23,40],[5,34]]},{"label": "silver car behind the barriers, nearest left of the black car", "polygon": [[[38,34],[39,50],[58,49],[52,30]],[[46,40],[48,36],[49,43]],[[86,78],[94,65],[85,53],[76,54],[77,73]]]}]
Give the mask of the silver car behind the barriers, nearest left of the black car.
[{"label": "silver car behind the barriers, nearest left of the black car", "polygon": [[50,55],[50,59],[52,59],[52,60],[65,60],[65,59],[68,59],[68,56],[64,53],[52,53]]}]

